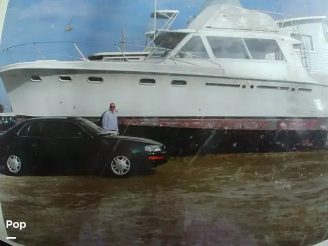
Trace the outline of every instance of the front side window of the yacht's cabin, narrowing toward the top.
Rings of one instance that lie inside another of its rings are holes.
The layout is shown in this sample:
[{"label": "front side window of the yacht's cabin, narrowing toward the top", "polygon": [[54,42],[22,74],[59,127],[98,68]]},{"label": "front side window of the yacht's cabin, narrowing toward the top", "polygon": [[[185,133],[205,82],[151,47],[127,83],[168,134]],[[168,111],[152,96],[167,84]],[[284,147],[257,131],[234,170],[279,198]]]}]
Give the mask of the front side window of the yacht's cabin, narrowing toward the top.
[{"label": "front side window of the yacht's cabin, narrowing toward the top", "polygon": [[210,56],[201,40],[200,36],[192,36],[187,43],[175,55],[177,58],[205,58]]}]

